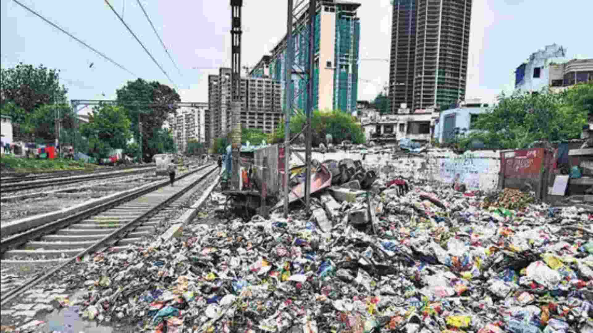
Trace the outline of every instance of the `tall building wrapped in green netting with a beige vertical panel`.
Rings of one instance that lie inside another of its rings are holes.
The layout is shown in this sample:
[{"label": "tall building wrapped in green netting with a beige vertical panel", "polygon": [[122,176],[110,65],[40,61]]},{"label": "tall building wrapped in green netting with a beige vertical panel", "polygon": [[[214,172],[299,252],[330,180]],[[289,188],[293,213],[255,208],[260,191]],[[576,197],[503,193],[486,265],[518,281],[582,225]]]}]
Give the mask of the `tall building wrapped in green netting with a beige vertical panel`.
[{"label": "tall building wrapped in green netting with a beige vertical panel", "polygon": [[[358,96],[358,57],[361,24],[357,10],[361,4],[340,0],[317,1],[314,18],[314,70],[313,108],[319,110],[342,110],[349,114],[356,111]],[[297,68],[305,69],[308,60],[308,36],[299,31],[308,24],[308,4],[300,11],[293,26],[292,41],[297,50]],[[282,107],[285,107],[285,63],[286,36],[273,47],[270,55],[251,70],[253,78],[266,77],[282,83]],[[295,99],[294,108],[304,110],[307,103],[306,81],[297,74],[292,75],[292,95],[302,91]]]}]

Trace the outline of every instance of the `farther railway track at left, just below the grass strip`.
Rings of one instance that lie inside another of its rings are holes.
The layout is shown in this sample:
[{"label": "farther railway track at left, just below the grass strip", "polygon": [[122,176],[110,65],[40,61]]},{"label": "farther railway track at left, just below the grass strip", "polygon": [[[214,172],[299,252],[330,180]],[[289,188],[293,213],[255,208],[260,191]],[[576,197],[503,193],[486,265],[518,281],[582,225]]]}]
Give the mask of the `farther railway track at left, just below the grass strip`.
[{"label": "farther railway track at left, just below the grass strip", "polygon": [[[38,180],[2,180],[0,182],[0,192],[2,193],[9,193],[9,192],[16,192],[21,190],[30,190],[31,188],[41,188],[47,186],[55,186],[55,185],[66,185],[72,184],[75,182],[80,181],[87,181],[87,180],[97,180],[103,178],[113,178],[113,177],[122,177],[127,175],[137,175],[137,174],[145,174],[146,172],[151,172],[154,170],[153,168],[141,168],[138,170],[133,171],[111,171],[111,172],[98,172],[93,174],[84,174],[78,176],[70,176],[70,177],[50,177],[38,179]],[[22,179],[22,178],[21,178]]]}]

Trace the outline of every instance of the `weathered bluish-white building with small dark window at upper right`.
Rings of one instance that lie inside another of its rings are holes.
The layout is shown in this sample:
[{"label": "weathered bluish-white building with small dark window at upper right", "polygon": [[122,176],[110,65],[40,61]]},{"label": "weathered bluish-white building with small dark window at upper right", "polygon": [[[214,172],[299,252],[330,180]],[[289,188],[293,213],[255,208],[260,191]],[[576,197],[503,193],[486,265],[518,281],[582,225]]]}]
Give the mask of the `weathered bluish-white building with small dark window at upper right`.
[{"label": "weathered bluish-white building with small dark window at upper right", "polygon": [[545,49],[531,54],[527,62],[515,70],[515,89],[540,91],[550,84],[550,65],[565,62],[566,50],[559,45],[547,45]]}]

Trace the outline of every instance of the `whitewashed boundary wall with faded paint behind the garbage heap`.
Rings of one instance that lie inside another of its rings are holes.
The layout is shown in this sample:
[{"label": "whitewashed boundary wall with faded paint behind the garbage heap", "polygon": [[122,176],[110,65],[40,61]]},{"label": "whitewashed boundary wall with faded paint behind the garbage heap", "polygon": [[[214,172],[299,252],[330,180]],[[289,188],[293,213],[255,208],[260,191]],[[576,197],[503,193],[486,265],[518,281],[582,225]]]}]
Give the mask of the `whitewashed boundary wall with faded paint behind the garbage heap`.
[{"label": "whitewashed boundary wall with faded paint behind the garbage heap", "polygon": [[[300,152],[302,156],[304,153]],[[362,159],[364,152],[313,153],[313,159]],[[455,178],[470,189],[495,190],[500,177],[500,151],[474,151],[457,155],[445,149],[431,149],[428,152],[392,158],[392,153],[368,151],[363,161],[366,168],[384,172],[391,169],[388,177],[401,176],[414,180],[429,180],[452,183]],[[292,156],[291,165],[301,165]],[[385,168],[385,165],[391,167]]]}]

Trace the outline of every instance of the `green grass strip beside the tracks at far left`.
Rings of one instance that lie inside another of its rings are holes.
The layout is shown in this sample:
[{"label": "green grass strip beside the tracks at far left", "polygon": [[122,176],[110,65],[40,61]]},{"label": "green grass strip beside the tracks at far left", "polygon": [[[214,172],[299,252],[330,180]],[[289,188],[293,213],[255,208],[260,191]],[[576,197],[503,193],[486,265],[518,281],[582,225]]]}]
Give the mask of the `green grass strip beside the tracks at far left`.
[{"label": "green grass strip beside the tracks at far left", "polygon": [[0,156],[2,171],[63,171],[94,169],[97,165],[71,159],[30,159],[12,155]]}]

